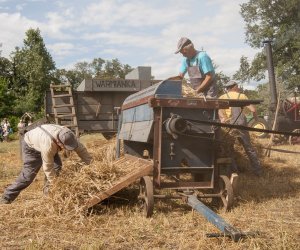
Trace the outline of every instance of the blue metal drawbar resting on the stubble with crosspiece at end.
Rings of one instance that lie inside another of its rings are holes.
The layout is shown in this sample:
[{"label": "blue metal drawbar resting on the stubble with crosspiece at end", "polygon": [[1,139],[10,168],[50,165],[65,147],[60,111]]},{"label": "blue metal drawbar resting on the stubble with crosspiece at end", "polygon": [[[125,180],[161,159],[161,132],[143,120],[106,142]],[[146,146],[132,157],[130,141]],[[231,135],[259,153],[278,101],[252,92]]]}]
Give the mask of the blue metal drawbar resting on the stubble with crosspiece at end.
[{"label": "blue metal drawbar resting on the stubble with crosspiece at end", "polygon": [[[231,226],[222,217],[217,215],[210,208],[205,206],[201,201],[194,195],[188,196],[187,202],[193,209],[201,213],[210,223],[217,227],[222,233],[220,234],[207,234],[208,237],[222,237],[229,236],[234,242],[238,242],[241,237],[250,236],[250,233],[243,233],[239,229]],[[252,234],[253,235],[253,234]]]}]

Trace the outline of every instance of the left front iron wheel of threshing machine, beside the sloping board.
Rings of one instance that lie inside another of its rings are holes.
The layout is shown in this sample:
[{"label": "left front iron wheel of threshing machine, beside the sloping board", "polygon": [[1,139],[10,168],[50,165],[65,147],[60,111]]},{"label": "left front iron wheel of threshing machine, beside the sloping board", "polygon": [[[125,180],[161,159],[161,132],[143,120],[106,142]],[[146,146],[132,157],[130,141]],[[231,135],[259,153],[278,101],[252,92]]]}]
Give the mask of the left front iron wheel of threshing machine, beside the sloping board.
[{"label": "left front iron wheel of threshing machine, beside the sloping board", "polygon": [[153,214],[154,196],[153,196],[153,183],[150,176],[144,176],[140,180],[140,194],[139,199],[143,203],[143,213],[149,218]]}]

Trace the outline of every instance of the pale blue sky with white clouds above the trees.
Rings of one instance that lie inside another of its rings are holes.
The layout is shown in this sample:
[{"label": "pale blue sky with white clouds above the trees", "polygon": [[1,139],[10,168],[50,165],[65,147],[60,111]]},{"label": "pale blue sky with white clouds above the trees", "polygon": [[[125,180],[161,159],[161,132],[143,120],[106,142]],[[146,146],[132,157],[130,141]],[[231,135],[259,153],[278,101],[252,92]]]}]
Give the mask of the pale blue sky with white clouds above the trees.
[{"label": "pale blue sky with white clouds above the trees", "polygon": [[155,79],[166,79],[179,72],[181,55],[174,52],[185,36],[208,53],[217,71],[232,76],[241,56],[252,60],[258,52],[245,43],[243,2],[0,0],[1,55],[8,58],[29,28],[39,28],[57,68],[117,58],[133,68],[151,66]]}]

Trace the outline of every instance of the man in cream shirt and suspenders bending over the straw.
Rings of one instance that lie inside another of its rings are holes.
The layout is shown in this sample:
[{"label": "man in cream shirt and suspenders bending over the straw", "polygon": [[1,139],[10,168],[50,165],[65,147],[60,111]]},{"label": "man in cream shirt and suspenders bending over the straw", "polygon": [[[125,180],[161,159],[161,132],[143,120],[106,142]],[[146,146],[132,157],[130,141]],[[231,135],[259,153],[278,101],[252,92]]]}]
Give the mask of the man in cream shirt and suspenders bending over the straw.
[{"label": "man in cream shirt and suspenders bending over the straw", "polygon": [[68,128],[56,124],[44,124],[27,133],[22,139],[23,168],[16,181],[4,191],[0,204],[13,202],[22,190],[35,179],[42,167],[46,176],[44,193],[61,170],[58,152],[62,149],[75,151],[83,162],[90,164],[91,155]]}]

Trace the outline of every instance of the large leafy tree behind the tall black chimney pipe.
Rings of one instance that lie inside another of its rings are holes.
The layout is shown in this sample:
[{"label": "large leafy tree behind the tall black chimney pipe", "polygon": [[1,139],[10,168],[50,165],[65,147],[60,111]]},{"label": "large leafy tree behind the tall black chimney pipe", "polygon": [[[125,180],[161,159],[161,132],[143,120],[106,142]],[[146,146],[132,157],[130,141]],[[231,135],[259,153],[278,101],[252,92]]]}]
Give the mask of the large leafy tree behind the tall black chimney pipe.
[{"label": "large leafy tree behind the tall black chimney pipe", "polygon": [[[241,4],[246,23],[246,42],[261,48],[264,40],[273,41],[273,61],[277,78],[288,88],[300,83],[300,2],[299,0],[250,0]],[[236,76],[261,80],[265,77],[266,57],[262,50],[245,71],[241,58]]]}]

